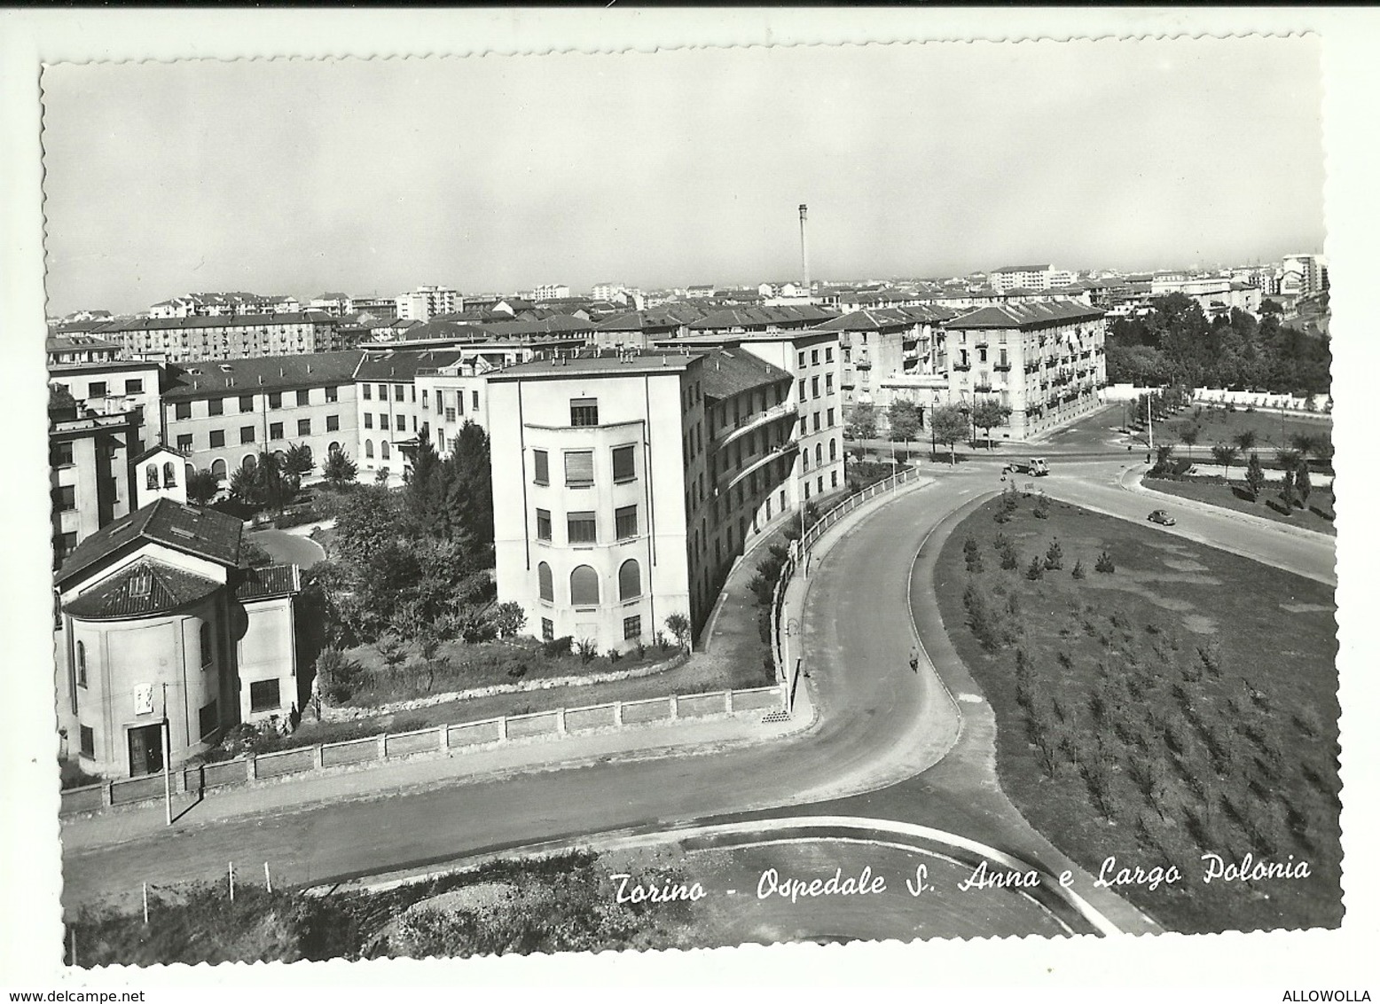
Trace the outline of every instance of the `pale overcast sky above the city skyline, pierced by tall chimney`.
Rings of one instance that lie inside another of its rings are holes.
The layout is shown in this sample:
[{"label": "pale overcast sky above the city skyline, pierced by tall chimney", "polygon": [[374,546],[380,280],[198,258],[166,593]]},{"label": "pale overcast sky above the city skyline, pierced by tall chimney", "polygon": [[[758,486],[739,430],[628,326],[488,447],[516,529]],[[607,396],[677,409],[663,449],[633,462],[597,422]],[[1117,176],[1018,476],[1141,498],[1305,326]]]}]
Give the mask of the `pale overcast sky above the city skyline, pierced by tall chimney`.
[{"label": "pale overcast sky above the city skyline, pierced by tall chimney", "polygon": [[1322,248],[1315,39],[59,65],[48,312]]}]

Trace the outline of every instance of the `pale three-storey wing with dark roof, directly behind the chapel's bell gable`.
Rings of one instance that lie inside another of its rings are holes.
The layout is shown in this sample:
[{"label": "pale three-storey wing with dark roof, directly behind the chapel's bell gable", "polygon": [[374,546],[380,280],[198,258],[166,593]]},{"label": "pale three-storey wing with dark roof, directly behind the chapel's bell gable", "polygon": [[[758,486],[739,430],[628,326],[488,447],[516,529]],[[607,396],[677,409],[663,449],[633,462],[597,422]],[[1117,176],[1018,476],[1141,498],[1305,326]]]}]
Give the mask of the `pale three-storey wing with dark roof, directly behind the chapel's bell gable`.
[{"label": "pale three-storey wing with dark roof, directly behind the chapel's bell gable", "polygon": [[161,439],[199,470],[228,481],[262,451],[306,445],[317,465],[333,450],[357,459],[355,370],[363,353],[233,359],[170,365]]}]

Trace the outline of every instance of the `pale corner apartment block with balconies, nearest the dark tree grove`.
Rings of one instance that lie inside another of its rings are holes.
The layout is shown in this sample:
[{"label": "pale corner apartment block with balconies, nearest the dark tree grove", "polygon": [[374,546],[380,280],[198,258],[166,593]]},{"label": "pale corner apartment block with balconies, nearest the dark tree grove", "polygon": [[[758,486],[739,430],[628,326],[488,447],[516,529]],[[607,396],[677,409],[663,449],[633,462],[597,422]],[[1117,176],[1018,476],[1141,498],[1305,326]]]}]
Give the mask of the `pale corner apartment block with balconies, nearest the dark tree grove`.
[{"label": "pale corner apartment block with balconies, nearest the dark tree grove", "polygon": [[987,306],[945,324],[949,403],[1012,408],[994,439],[1023,440],[1097,407],[1107,382],[1104,312],[1078,301]]}]

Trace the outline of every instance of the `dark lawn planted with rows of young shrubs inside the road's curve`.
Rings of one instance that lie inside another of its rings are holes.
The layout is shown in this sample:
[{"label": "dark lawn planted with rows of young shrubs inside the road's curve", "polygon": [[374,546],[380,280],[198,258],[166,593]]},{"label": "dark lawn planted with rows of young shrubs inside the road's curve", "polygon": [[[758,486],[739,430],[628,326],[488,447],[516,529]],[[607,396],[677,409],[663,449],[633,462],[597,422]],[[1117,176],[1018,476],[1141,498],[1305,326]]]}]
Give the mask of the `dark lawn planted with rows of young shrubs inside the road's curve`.
[{"label": "dark lawn planted with rows of young shrubs inside the road's curve", "polygon": [[[1038,519],[1021,498],[999,524],[1002,506],[959,524],[934,582],[996,716],[1006,794],[1094,876],[1107,856],[1176,866],[1173,885],[1119,888],[1170,930],[1337,927],[1333,589],[1064,503]],[[1054,538],[1063,568],[1027,578]],[[1115,571],[1094,570],[1103,552]],[[1305,861],[1311,876],[1205,884],[1206,854]]]}]

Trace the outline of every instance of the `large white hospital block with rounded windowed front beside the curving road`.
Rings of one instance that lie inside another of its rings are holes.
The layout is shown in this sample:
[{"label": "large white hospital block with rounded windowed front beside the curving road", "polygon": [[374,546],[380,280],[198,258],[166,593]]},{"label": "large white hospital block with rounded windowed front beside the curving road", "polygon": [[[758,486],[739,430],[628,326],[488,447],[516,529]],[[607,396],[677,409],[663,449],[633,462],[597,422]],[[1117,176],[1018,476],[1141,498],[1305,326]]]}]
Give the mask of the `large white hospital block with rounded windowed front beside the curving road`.
[{"label": "large white hospital block with rounded windowed front beside the curving road", "polygon": [[787,508],[791,375],[740,349],[564,356],[489,375],[498,596],[599,651],[696,630]]}]

